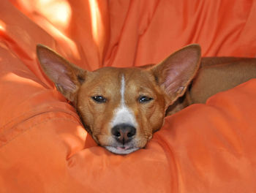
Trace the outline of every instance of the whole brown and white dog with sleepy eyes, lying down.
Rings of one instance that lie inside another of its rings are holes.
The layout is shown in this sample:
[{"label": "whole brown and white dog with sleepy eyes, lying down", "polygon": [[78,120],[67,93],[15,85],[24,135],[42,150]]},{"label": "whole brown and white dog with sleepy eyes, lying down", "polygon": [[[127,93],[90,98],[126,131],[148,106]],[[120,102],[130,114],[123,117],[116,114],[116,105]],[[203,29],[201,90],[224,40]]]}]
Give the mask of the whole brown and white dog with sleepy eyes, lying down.
[{"label": "whole brown and white dog with sleepy eyes, lying down", "polygon": [[42,71],[78,112],[85,129],[114,154],[144,148],[165,116],[233,88],[256,75],[256,58],[201,58],[188,45],[160,64],[103,67],[89,72],[45,45],[37,45]]}]

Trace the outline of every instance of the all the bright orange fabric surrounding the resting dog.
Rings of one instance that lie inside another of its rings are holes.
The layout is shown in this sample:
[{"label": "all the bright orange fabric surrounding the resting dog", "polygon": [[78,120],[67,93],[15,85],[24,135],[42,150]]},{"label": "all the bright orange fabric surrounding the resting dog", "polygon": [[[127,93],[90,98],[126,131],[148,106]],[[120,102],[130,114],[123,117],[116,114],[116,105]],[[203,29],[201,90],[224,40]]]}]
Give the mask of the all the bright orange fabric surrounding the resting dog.
[{"label": "all the bright orange fabric surrounding the resting dog", "polygon": [[86,69],[256,56],[256,1],[1,1],[0,192],[255,192],[256,80],[166,118],[145,149],[98,147],[42,75],[37,43]]}]

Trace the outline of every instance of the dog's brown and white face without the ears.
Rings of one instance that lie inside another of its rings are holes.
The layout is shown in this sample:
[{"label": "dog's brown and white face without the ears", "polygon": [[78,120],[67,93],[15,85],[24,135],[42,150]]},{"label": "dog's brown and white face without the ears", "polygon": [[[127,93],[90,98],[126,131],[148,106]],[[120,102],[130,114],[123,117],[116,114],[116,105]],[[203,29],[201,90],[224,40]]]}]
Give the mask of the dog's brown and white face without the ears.
[{"label": "dog's brown and white face without the ears", "polygon": [[168,98],[151,73],[107,67],[85,79],[76,108],[94,140],[109,151],[128,154],[142,148],[162,126]]}]

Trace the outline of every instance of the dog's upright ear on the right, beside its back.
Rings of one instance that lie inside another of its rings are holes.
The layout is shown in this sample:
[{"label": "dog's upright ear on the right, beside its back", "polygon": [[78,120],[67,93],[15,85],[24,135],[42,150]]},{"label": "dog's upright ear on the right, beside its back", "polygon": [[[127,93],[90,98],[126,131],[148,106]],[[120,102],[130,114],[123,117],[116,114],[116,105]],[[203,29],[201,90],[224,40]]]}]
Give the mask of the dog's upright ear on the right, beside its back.
[{"label": "dog's upright ear on the right, beside its back", "polygon": [[[188,45],[151,68],[151,72],[171,99],[182,96],[200,66],[200,45]],[[170,104],[171,105],[171,104]]]}]

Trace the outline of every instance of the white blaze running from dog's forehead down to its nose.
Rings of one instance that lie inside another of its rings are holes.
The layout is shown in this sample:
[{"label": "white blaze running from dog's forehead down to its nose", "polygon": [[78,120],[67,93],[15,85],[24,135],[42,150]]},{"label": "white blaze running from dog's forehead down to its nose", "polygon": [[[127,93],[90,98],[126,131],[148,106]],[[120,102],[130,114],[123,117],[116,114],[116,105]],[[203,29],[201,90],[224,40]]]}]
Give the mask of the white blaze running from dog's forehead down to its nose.
[{"label": "white blaze running from dog's forehead down to its nose", "polygon": [[111,127],[116,126],[118,124],[129,124],[131,126],[135,126],[135,128],[138,126],[134,113],[132,110],[125,105],[124,101],[124,93],[125,93],[125,80],[124,80],[124,75],[121,77],[121,89],[120,89],[120,94],[121,94],[121,102],[119,107],[117,107],[114,110],[113,113],[113,120],[111,121]]}]

